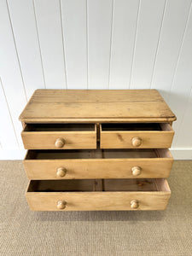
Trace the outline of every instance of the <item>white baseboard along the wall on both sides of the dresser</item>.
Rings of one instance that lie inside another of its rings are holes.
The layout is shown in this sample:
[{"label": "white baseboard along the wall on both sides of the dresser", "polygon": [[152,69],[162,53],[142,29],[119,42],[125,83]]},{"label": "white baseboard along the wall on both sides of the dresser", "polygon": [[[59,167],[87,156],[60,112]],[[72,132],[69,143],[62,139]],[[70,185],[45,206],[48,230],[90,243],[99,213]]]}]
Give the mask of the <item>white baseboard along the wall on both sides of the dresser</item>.
[{"label": "white baseboard along the wall on both sides of the dresser", "polygon": [[[172,156],[175,160],[192,160],[192,148],[171,148]],[[26,150],[0,149],[0,160],[23,160]]]}]

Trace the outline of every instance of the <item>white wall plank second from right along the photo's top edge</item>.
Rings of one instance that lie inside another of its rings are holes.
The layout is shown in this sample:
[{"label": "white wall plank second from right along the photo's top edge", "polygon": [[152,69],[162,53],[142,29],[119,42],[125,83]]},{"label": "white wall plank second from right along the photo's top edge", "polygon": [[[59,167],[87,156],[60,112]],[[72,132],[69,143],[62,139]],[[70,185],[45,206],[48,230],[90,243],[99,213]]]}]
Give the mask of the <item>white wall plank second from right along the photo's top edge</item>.
[{"label": "white wall plank second from right along the photo's top edge", "polygon": [[150,87],[165,0],[141,1],[132,63],[131,89]]}]

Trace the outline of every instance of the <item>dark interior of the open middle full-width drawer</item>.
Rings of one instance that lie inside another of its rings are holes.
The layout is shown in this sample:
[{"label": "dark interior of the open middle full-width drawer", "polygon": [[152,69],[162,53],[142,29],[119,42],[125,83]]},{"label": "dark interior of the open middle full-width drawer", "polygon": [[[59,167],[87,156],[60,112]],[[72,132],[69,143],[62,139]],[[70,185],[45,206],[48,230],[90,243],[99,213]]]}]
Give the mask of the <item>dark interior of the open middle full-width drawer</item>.
[{"label": "dark interior of the open middle full-width drawer", "polygon": [[26,160],[57,159],[119,159],[119,158],[172,158],[166,148],[91,149],[91,150],[28,150]]}]

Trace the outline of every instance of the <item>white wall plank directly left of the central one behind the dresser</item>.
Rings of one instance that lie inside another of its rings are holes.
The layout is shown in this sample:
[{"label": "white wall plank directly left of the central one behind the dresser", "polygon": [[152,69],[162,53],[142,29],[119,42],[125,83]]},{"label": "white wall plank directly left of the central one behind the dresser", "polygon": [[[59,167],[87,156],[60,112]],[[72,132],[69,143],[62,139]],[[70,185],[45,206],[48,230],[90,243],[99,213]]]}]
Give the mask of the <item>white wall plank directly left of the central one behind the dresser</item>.
[{"label": "white wall plank directly left of the central one behind the dresser", "polygon": [[62,0],[67,89],[87,89],[86,0]]}]

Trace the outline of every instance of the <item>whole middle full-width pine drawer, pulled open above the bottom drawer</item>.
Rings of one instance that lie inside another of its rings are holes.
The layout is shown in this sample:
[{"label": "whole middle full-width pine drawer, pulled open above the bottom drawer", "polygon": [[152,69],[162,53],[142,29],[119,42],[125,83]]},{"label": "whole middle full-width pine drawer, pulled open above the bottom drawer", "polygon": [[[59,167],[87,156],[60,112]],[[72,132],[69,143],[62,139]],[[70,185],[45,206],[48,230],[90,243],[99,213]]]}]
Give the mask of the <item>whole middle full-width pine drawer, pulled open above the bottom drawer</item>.
[{"label": "whole middle full-width pine drawer, pulled open above the bottom drawer", "polygon": [[29,150],[29,179],[168,177],[168,149]]}]

